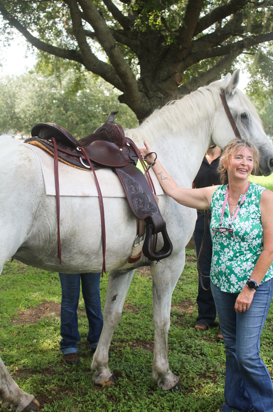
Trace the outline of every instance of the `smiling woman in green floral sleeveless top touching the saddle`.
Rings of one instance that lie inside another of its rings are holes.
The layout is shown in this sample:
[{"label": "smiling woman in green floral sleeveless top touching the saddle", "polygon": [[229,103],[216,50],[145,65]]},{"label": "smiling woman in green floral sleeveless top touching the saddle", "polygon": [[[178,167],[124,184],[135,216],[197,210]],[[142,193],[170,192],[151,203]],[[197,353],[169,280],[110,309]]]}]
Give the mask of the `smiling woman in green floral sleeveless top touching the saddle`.
[{"label": "smiling woman in green floral sleeveless top touching the saddle", "polygon": [[[143,154],[153,152],[144,145]],[[273,293],[273,193],[248,181],[258,164],[253,143],[235,139],[220,157],[221,186],[179,188],[158,159],[153,166],[177,202],[212,210],[211,289],[226,349],[222,412],[273,412],[273,384],[258,349]]]}]

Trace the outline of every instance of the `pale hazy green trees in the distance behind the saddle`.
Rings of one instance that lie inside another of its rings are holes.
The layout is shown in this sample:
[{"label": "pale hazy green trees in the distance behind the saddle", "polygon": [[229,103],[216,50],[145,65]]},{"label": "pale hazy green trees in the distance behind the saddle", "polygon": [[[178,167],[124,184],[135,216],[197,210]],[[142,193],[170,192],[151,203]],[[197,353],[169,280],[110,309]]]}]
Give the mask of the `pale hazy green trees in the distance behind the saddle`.
[{"label": "pale hazy green trees in the distance behind the saddle", "polygon": [[[18,93],[18,90],[20,93]],[[124,128],[137,126],[131,109],[118,102],[118,91],[91,73],[72,70],[54,76],[26,73],[0,78],[0,134],[28,135],[38,122],[53,122],[81,138],[93,133],[118,110]]]}]

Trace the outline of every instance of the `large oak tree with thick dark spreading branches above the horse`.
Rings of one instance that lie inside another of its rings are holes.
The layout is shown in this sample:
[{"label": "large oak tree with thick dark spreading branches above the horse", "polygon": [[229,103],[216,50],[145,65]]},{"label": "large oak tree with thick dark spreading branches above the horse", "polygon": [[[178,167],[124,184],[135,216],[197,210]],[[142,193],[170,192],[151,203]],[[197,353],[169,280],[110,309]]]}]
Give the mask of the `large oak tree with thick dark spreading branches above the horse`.
[{"label": "large oak tree with thick dark spreading branches above the horse", "polygon": [[[6,38],[83,65],[139,120],[273,39],[273,0],[0,0]],[[47,57],[49,58],[49,57]]]}]

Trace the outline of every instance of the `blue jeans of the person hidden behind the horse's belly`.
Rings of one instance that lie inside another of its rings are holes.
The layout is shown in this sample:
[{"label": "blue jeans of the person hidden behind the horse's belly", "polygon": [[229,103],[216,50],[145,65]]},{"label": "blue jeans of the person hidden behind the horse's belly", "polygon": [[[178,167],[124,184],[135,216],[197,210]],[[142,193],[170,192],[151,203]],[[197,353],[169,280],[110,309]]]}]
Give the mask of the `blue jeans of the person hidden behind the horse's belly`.
[{"label": "blue jeans of the person hidden behind the horse's belly", "polygon": [[89,323],[87,340],[91,348],[96,348],[102,331],[99,280],[100,273],[68,274],[59,273],[61,284],[60,308],[60,350],[63,355],[77,353],[80,341],[77,308],[79,303],[80,280],[83,300]]}]

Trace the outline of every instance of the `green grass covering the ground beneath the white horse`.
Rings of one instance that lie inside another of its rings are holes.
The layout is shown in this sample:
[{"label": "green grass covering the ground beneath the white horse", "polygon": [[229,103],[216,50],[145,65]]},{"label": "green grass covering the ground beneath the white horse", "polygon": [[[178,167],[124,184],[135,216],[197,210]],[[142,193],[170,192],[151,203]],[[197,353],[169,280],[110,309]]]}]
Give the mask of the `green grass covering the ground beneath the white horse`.
[{"label": "green grass covering the ground beneath the white horse", "polygon": [[[272,187],[272,178],[255,177]],[[152,278],[136,273],[124,304],[120,324],[111,343],[109,366],[118,378],[112,388],[93,384],[86,337],[88,324],[79,302],[79,355],[81,363],[64,366],[59,351],[60,320],[53,313],[37,323],[16,324],[44,301],[60,303],[58,274],[33,269],[18,261],[7,262],[0,276],[0,356],[14,380],[40,402],[40,412],[212,412],[224,397],[225,352],[216,343],[217,327],[201,333],[197,317],[196,260],[187,261],[173,293],[168,349],[172,372],[183,381],[183,393],[162,392],[152,379]],[[102,305],[107,276],[101,279]],[[18,314],[18,311],[20,311]],[[21,322],[22,323],[22,322]],[[261,337],[261,355],[273,376],[273,311],[270,308]]]}]

